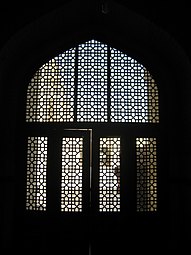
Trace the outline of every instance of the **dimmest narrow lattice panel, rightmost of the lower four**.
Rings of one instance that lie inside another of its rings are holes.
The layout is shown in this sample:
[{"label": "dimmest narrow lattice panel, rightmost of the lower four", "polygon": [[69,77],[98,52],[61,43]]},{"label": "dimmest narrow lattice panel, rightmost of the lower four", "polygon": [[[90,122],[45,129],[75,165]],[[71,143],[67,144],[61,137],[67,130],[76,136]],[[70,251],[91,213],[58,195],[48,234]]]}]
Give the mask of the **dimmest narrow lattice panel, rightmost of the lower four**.
[{"label": "dimmest narrow lattice panel, rightmost of the lower four", "polygon": [[156,138],[136,138],[137,211],[157,211]]}]

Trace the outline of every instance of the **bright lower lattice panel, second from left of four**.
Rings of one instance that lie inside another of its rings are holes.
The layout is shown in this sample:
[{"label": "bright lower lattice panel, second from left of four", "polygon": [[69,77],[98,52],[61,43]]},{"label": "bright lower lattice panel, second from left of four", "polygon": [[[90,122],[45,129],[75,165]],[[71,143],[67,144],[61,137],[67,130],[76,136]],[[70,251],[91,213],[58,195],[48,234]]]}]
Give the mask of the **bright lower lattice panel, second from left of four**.
[{"label": "bright lower lattice panel, second from left of four", "polygon": [[62,140],[61,211],[82,211],[83,138]]}]

